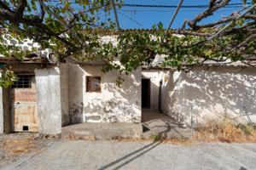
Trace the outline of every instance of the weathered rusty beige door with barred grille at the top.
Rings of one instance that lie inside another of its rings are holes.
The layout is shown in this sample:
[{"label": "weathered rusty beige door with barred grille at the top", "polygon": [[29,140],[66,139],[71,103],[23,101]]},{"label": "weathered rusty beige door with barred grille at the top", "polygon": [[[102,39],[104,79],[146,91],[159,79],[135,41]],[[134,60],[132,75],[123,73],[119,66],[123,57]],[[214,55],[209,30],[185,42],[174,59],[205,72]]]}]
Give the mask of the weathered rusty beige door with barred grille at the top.
[{"label": "weathered rusty beige door with barred grille at the top", "polygon": [[35,78],[19,76],[11,89],[14,132],[38,132]]}]

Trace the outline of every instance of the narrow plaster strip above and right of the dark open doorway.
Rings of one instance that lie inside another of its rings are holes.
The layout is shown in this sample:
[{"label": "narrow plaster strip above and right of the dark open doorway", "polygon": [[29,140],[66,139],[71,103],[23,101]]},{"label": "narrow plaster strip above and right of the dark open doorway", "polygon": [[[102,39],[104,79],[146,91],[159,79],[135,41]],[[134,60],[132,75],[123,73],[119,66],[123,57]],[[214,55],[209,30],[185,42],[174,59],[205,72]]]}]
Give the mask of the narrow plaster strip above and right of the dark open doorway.
[{"label": "narrow plaster strip above and right of the dark open doorway", "polygon": [[163,71],[142,71],[142,78],[150,79],[150,109],[159,110],[160,81]]}]

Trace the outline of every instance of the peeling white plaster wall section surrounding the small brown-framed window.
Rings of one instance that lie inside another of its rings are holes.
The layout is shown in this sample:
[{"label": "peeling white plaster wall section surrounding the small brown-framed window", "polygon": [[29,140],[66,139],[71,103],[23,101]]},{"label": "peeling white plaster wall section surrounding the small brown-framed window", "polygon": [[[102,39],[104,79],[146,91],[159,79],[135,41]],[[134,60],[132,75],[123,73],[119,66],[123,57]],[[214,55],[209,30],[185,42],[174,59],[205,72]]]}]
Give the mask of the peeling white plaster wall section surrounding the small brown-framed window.
[{"label": "peeling white plaster wall section surrounding the small brown-framed window", "polygon": [[[121,88],[117,71],[102,72],[102,66],[69,63],[69,107],[72,123],[141,122],[141,69],[125,76]],[[86,92],[86,76],[99,76],[102,92]]]}]

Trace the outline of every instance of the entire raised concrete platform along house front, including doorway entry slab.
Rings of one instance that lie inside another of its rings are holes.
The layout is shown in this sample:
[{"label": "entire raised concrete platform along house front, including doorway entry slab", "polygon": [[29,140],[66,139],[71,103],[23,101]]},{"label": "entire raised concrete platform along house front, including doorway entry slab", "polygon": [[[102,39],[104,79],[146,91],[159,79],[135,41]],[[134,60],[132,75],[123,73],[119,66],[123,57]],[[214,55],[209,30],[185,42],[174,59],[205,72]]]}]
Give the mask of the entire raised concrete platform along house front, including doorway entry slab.
[{"label": "entire raised concrete platform along house front, including doorway entry slab", "polygon": [[109,140],[122,138],[161,139],[190,138],[192,129],[180,127],[172,117],[159,111],[143,110],[142,123],[86,122],[62,127],[62,137],[70,139]]}]

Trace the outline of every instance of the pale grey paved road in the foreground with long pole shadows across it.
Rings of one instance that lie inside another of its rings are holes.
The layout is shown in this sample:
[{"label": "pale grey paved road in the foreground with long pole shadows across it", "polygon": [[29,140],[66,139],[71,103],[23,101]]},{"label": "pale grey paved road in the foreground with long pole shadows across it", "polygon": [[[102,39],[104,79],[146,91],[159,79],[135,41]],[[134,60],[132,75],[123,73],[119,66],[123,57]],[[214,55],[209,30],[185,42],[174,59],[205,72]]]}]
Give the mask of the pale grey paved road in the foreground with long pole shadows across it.
[{"label": "pale grey paved road in the foreground with long pole shadows across it", "polygon": [[256,169],[256,144],[55,141],[3,169]]}]

